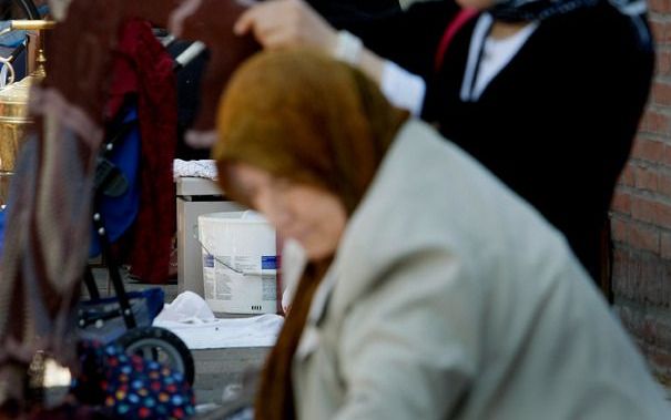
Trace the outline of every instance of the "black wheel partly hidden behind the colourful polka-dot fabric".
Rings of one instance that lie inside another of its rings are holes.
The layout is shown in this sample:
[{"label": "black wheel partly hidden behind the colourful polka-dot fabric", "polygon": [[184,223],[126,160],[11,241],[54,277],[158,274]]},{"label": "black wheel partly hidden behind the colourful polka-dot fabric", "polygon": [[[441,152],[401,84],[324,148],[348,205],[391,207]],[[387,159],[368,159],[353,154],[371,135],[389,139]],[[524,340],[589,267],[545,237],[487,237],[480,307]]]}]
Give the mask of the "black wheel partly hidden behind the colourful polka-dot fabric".
[{"label": "black wheel partly hidden behind the colourful polka-dot fabric", "polygon": [[184,341],[171,331],[159,327],[133,328],[119,337],[116,342],[129,355],[154,360],[182,372],[184,379],[193,385],[195,376],[193,356]]}]

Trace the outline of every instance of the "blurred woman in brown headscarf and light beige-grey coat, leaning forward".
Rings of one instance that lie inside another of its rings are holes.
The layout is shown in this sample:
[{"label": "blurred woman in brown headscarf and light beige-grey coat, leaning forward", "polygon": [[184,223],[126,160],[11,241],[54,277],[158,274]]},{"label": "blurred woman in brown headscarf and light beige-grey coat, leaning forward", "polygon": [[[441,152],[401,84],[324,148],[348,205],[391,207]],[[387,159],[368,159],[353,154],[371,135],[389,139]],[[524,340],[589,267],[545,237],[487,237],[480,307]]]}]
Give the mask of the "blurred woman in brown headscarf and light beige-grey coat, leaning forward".
[{"label": "blurred woman in brown headscarf and light beige-grey coat, leaning forward", "polygon": [[311,260],[256,418],[668,418],[565,238],[358,71],[262,53],[218,135],[223,187]]}]

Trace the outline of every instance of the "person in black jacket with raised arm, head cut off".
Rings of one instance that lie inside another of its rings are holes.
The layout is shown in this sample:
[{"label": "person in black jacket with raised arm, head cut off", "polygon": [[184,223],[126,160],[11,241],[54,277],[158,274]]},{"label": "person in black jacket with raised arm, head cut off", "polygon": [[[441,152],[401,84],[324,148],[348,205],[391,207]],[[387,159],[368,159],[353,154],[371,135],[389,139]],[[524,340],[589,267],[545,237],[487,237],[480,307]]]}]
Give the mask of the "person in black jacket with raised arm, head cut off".
[{"label": "person in black jacket with raised arm, head cut off", "polygon": [[[357,63],[536,206],[600,280],[608,208],[653,70],[644,2],[458,1],[340,24],[366,48],[298,0],[256,7],[236,29],[266,48],[308,43]],[[409,100],[399,92],[413,82],[390,78],[390,62],[421,76]]]}]

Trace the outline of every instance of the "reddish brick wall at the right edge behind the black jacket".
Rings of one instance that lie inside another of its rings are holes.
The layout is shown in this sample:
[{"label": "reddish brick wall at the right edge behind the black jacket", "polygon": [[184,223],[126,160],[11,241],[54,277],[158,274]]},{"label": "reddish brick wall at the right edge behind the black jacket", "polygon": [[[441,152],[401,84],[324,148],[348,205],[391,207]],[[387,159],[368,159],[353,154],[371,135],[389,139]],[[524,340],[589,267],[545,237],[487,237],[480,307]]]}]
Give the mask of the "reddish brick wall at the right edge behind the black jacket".
[{"label": "reddish brick wall at the right edge behind the black jacket", "polygon": [[671,0],[649,0],[657,74],[612,203],[612,291],[654,373],[671,385]]}]

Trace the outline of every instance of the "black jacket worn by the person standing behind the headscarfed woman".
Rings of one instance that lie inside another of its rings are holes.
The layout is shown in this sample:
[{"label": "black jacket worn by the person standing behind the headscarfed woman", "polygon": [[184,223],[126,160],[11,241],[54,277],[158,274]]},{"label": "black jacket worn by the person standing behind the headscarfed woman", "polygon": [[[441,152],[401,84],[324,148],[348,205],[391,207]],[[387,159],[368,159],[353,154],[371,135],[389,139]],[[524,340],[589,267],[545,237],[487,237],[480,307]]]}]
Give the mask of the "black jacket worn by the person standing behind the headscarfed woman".
[{"label": "black jacket worn by the person standing behind the headscarfed woman", "polygon": [[451,1],[418,3],[348,29],[426,79],[424,117],[563,232],[598,279],[600,234],[653,71],[647,22],[608,1],[549,18],[477,102],[462,102],[477,18],[461,28],[434,71],[438,42],[457,10]]}]

